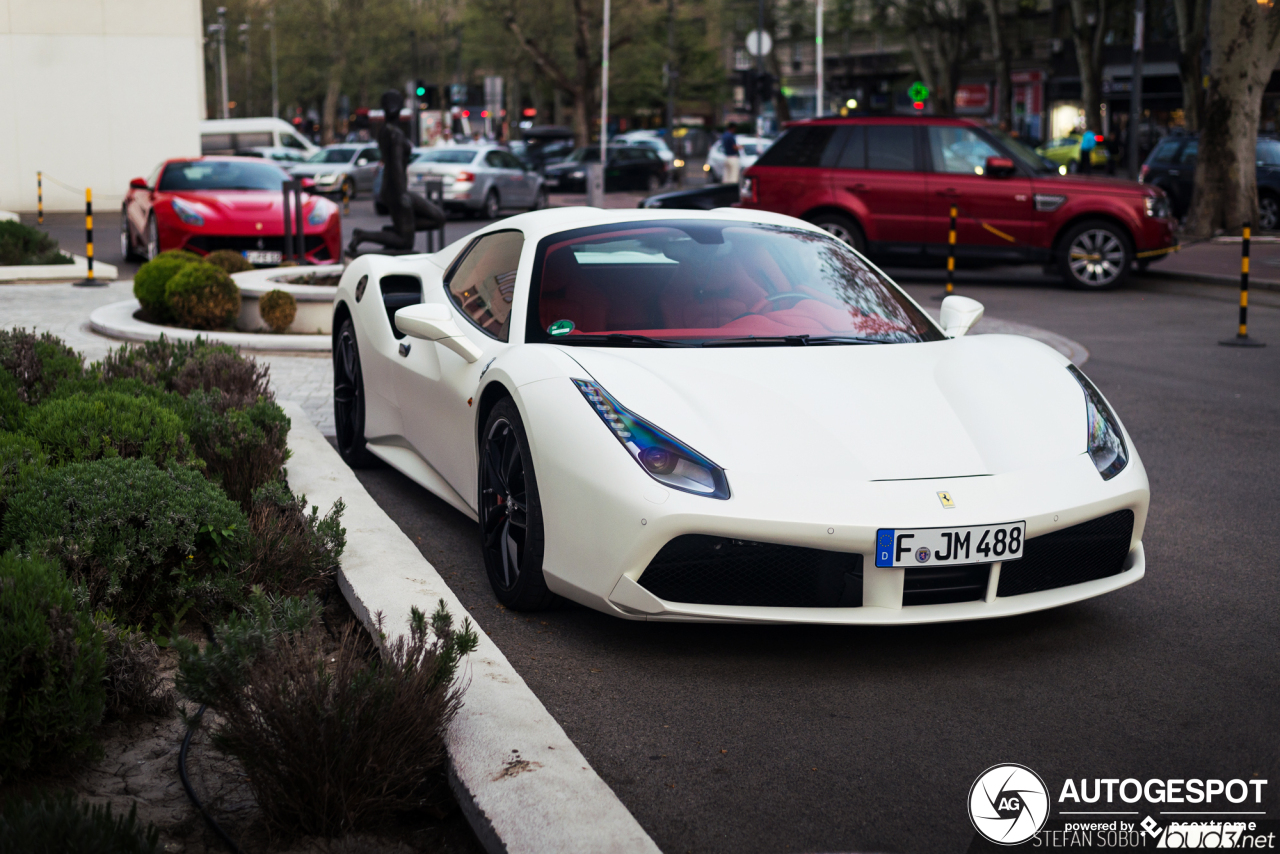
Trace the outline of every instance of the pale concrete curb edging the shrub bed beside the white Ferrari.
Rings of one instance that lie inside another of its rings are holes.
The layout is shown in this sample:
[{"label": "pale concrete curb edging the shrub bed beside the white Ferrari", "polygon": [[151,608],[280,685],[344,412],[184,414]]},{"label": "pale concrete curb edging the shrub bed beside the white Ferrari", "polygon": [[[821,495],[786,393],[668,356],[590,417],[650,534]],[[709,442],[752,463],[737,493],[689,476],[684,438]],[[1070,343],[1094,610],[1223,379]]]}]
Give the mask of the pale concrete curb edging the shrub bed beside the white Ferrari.
[{"label": "pale concrete curb edging the shrub bed beside the white Ferrari", "polygon": [[[347,504],[347,551],[338,583],[360,620],[404,631],[410,607],[430,613],[443,599],[454,620],[466,608],[417,547],[383,512],[296,403],[282,403],[289,431],[289,487],[307,502]],[[472,621],[474,625],[474,621]],[[476,627],[470,686],[447,737],[451,782],[490,854],[655,854],[649,835],[564,735],[498,647]]]}]

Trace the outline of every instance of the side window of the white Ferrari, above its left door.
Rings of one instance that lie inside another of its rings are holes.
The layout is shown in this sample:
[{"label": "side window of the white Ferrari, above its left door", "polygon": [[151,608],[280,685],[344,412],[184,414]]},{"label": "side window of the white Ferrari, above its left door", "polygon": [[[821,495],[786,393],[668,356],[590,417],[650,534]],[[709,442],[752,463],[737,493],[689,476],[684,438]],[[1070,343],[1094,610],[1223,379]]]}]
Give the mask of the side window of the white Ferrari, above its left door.
[{"label": "side window of the white Ferrari, above its left door", "polygon": [[524,246],[522,232],[485,234],[467,248],[444,284],[453,305],[498,341],[507,341],[511,326],[511,300]]}]

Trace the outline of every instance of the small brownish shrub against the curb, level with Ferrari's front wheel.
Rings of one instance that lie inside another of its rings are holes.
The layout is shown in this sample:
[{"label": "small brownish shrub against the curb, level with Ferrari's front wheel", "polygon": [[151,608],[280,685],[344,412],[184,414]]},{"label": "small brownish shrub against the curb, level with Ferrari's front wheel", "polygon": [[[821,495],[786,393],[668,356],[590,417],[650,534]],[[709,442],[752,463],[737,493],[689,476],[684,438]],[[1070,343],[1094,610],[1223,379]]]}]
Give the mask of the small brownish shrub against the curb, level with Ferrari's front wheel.
[{"label": "small brownish shrub against the curb, level with Ferrari's front wheel", "polygon": [[344,510],[339,499],[320,519],[320,508],[308,513],[307,497],[294,495],[283,480],[259,488],[248,515],[250,557],[242,576],[288,594],[316,589],[333,577],[347,545]]}]

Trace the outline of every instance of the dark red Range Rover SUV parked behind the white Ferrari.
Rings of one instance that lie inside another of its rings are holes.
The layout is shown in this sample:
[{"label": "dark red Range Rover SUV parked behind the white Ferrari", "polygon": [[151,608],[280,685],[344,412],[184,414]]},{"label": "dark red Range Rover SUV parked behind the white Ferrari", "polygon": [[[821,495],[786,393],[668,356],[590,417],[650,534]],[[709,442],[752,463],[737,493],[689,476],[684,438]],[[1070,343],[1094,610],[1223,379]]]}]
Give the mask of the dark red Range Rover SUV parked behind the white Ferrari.
[{"label": "dark red Range Rover SUV parked behind the white Ferrari", "polygon": [[742,207],[806,219],[884,264],[956,259],[1044,264],[1082,288],[1114,288],[1174,246],[1164,191],[1061,175],[966,119],[856,117],[790,125],[742,177]]}]

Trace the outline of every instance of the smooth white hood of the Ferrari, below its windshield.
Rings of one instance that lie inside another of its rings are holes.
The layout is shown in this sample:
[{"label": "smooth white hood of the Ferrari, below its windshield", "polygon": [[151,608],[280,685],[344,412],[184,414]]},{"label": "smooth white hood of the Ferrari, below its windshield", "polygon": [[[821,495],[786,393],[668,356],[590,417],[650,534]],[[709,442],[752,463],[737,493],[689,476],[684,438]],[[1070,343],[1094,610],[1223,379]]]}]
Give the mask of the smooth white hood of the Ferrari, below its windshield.
[{"label": "smooth white hood of the Ferrari, below its windshield", "polygon": [[[1084,394],[1018,335],[918,344],[561,347],[622,406],[730,472],[832,483],[997,475],[1085,451]],[[754,479],[754,478],[753,478]]]}]

